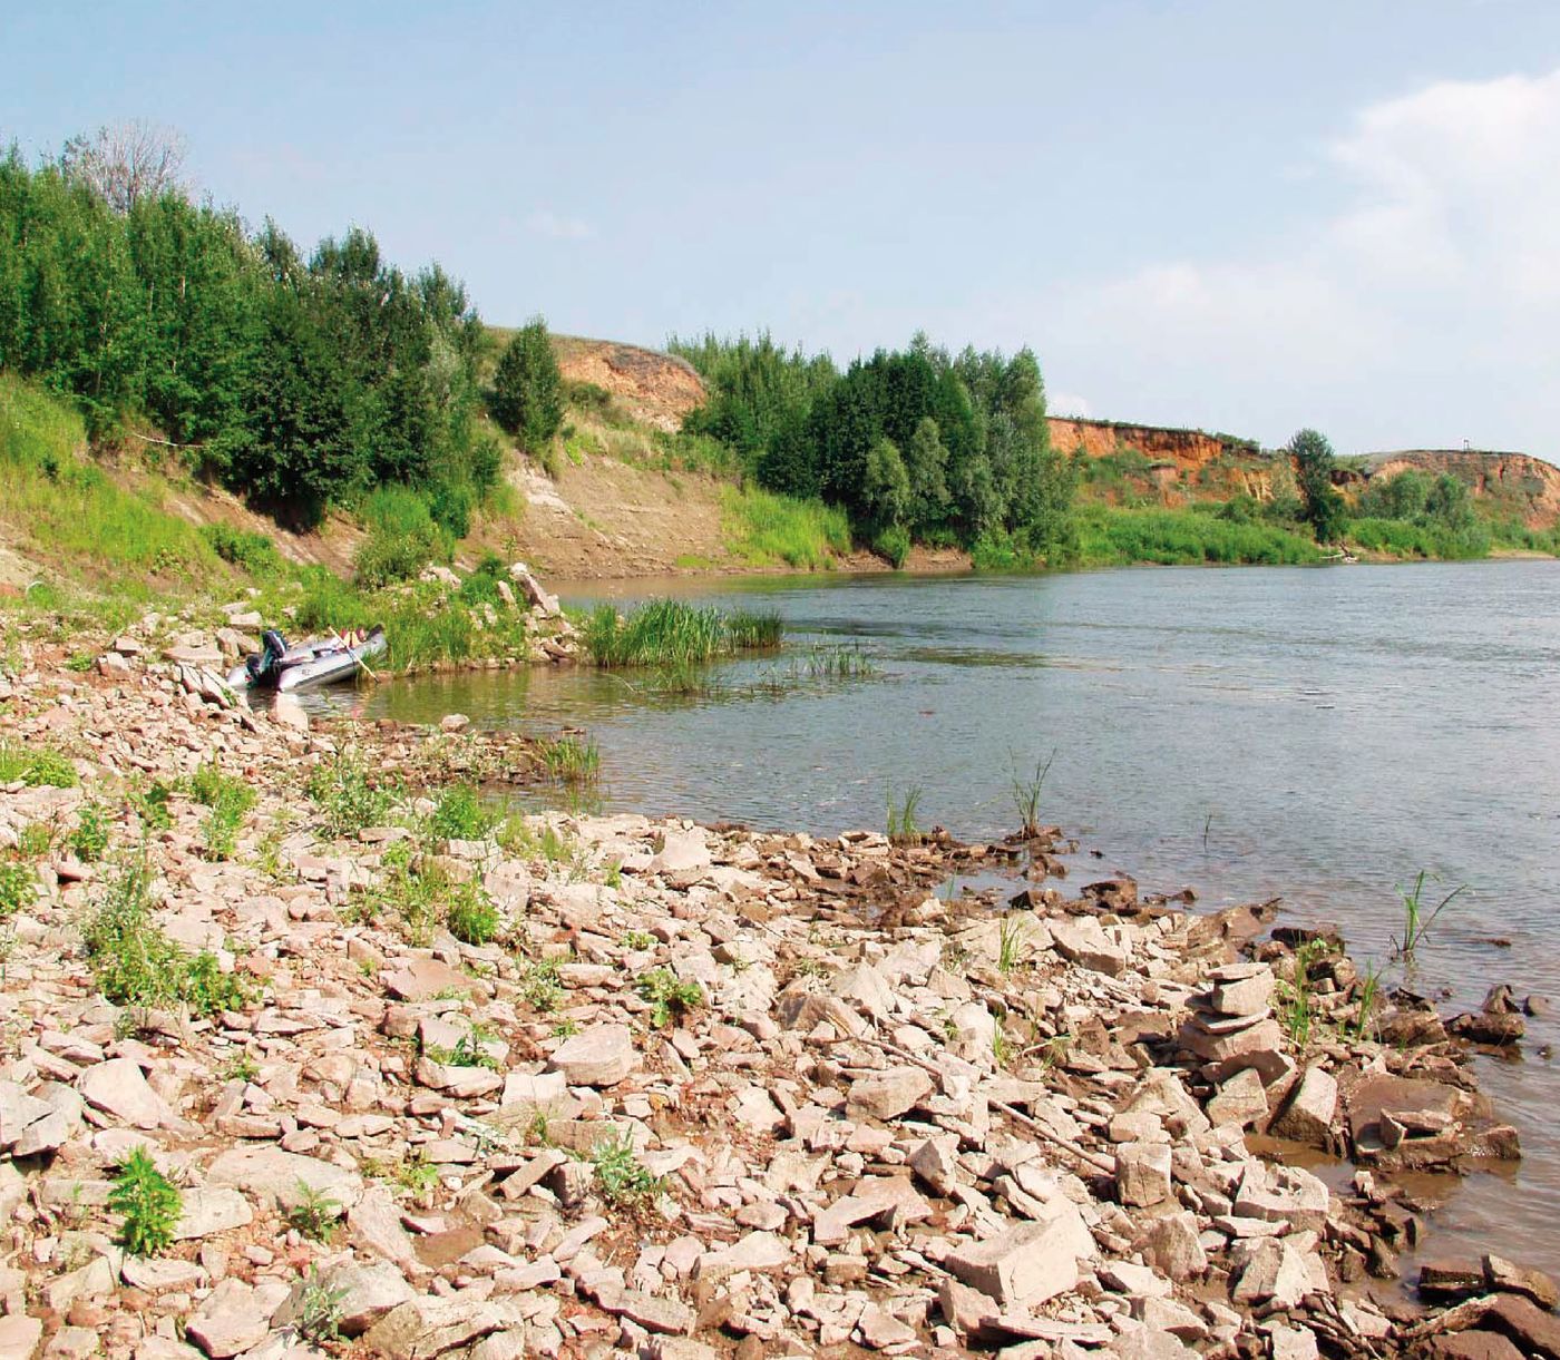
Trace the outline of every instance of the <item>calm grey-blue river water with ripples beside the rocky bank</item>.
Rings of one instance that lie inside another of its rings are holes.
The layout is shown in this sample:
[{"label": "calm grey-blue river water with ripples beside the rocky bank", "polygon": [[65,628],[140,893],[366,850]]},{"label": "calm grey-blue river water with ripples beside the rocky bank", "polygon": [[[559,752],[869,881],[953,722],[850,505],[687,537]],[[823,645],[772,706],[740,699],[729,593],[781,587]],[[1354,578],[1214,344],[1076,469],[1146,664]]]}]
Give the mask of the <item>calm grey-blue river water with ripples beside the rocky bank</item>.
[{"label": "calm grey-blue river water with ripples beside the rocky bank", "polygon": [[[591,583],[585,602],[688,594],[778,610],[786,652],[658,697],[585,668],[438,677],[351,700],[367,716],[587,728],[612,806],[835,833],[881,828],[919,784],[922,825],[1016,827],[1014,766],[1055,752],[1042,820],[1098,850],[1083,872],[1200,903],[1282,897],[1385,961],[1396,887],[1468,884],[1418,961],[1443,1009],[1509,981],[1560,998],[1560,563],[1133,569],[1042,577],[782,577]],[[880,674],[782,680],[816,643]],[[768,683],[766,683],[768,682]],[[1075,875],[1073,883],[1078,881]],[[1429,897],[1429,892],[1426,894]],[[1501,944],[1504,940],[1509,944]],[[1392,975],[1396,976],[1396,975]],[[1480,1081],[1521,1131],[1432,1251],[1488,1245],[1560,1270],[1560,1073],[1524,1056]]]}]

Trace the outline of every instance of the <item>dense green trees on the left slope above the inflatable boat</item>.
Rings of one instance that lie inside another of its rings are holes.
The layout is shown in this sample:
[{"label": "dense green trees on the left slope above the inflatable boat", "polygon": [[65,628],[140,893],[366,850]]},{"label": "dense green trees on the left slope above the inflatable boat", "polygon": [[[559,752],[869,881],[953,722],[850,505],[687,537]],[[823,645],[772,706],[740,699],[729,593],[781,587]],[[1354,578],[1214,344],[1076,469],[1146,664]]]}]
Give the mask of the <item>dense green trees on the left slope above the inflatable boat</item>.
[{"label": "dense green trees on the left slope above the inflatable boat", "polygon": [[176,172],[145,129],[37,168],[0,158],[0,368],[73,395],[95,435],[148,418],[275,508],[402,485],[463,535],[501,468],[465,289],[360,228],[304,256],[273,221],[192,203]]}]

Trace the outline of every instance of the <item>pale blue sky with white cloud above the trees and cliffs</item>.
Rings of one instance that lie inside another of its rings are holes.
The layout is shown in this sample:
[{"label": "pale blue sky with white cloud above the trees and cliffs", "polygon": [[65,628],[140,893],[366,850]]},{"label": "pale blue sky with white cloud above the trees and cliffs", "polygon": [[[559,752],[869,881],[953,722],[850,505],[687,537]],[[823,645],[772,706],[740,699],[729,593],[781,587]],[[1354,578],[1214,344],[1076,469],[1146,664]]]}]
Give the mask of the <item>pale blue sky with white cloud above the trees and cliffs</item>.
[{"label": "pale blue sky with white cloud above the trees and cliffs", "polygon": [[917,329],[1053,413],[1560,460],[1560,5],[9,3],[0,139],[643,345]]}]

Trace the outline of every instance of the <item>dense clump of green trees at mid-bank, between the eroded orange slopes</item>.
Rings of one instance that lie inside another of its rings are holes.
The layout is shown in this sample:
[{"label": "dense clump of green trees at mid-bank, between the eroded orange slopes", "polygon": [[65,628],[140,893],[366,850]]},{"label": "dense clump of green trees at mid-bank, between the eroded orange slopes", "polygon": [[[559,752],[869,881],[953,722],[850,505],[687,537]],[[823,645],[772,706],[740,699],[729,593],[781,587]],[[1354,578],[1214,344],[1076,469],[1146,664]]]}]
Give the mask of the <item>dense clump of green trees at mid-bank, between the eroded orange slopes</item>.
[{"label": "dense clump of green trees at mid-bank, between the eroded orange slopes", "polygon": [[735,449],[760,485],[844,507],[891,560],[911,541],[1028,561],[1070,554],[1075,471],[1051,448],[1031,351],[953,356],[917,334],[841,373],[768,334],[669,348],[708,390],[688,429]]}]

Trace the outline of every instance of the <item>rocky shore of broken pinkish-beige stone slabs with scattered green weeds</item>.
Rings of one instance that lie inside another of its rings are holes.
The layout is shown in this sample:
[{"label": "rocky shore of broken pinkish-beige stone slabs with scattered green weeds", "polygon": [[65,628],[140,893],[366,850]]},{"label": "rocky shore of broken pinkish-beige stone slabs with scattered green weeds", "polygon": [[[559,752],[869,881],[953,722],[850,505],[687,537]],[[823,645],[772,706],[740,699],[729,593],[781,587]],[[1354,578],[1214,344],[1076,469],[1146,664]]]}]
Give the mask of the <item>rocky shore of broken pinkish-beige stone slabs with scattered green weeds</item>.
[{"label": "rocky shore of broken pinkish-beige stone slabs with scattered green weeds", "polygon": [[1025,887],[1053,836],[495,825],[441,786],[518,747],[112,655],[0,680],[0,1360],[1560,1357],[1537,1271],[1399,1280],[1395,1178],[1518,1156],[1502,995]]}]

